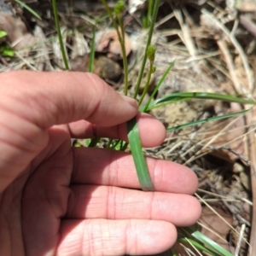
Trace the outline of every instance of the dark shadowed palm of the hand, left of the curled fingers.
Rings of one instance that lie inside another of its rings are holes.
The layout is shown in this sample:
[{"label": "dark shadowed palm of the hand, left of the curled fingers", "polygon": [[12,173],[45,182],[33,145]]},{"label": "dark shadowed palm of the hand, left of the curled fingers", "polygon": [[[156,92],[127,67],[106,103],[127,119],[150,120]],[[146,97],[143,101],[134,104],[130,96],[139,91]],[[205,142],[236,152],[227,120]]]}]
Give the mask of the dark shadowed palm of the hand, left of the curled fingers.
[{"label": "dark shadowed palm of the hand, left of the curled fingers", "polygon": [[73,172],[70,136],[58,130],[49,131],[48,145],[2,195],[4,244],[15,244],[5,255],[55,254]]}]

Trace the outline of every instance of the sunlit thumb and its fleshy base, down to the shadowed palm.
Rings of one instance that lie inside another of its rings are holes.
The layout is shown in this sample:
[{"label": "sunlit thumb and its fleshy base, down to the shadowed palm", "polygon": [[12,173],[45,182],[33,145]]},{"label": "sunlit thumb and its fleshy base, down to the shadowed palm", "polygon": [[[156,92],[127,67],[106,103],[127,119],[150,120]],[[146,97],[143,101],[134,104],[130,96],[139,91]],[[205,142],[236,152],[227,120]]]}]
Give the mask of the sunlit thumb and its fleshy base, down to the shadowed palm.
[{"label": "sunlit thumb and its fleshy base, down to the shadowed palm", "polygon": [[0,84],[0,191],[45,147],[50,126],[112,126],[137,114],[135,100],[91,73],[2,73]]}]

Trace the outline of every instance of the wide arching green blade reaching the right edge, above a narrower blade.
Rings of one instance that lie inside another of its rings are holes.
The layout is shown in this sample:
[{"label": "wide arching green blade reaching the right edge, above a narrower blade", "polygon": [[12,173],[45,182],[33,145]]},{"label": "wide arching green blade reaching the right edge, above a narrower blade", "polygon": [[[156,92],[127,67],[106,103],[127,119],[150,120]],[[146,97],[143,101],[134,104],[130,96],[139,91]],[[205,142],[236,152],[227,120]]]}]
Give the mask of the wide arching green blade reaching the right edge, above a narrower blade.
[{"label": "wide arching green blade reaching the right edge, above a narrower blade", "polygon": [[159,108],[161,106],[166,106],[167,104],[172,104],[174,102],[189,101],[193,99],[204,99],[204,100],[211,99],[211,100],[218,100],[218,101],[224,101],[224,102],[237,102],[237,103],[256,105],[256,102],[254,102],[253,100],[247,100],[237,96],[223,95],[218,93],[207,93],[207,92],[178,92],[178,93],[172,93],[154,102],[151,102],[148,106],[148,110],[151,110],[153,108]]}]

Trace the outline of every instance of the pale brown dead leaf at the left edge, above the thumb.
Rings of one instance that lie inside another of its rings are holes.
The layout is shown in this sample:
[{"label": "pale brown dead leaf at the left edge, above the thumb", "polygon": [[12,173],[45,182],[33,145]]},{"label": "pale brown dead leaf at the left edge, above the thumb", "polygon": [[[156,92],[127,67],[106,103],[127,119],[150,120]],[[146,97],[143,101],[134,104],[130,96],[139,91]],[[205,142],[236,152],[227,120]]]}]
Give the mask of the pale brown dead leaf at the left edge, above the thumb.
[{"label": "pale brown dead leaf at the left edge, above the thumb", "polygon": [[27,32],[24,22],[12,15],[0,14],[0,30],[7,32],[7,38],[14,49],[22,49],[37,43],[37,38]]}]

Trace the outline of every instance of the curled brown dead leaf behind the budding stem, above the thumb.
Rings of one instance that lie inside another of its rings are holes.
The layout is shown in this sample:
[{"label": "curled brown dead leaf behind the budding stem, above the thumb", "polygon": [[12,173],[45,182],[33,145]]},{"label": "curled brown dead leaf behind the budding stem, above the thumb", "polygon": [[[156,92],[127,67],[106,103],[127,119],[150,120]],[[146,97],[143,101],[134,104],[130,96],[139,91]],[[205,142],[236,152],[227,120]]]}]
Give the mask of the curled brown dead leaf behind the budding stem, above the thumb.
[{"label": "curled brown dead leaf behind the budding stem, above the thumb", "polygon": [[[109,29],[96,34],[96,51],[107,53],[108,58],[118,60],[123,57],[121,45],[119,43],[118,33],[114,29]],[[125,33],[125,53],[128,56],[131,53],[131,41]]]}]

